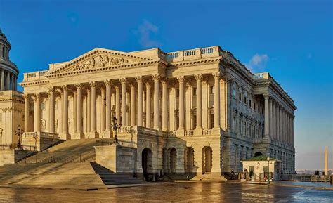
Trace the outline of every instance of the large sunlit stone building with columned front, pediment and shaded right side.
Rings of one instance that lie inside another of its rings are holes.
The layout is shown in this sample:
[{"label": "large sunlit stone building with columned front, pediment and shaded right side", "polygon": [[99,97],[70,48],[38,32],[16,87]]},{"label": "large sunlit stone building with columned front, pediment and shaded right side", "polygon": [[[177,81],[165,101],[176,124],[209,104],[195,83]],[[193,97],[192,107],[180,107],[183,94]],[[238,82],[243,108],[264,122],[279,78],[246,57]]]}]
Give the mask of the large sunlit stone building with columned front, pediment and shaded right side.
[{"label": "large sunlit stone building with columned front, pediment and shaded right side", "polygon": [[292,98],[219,46],[164,53],[95,48],[24,74],[25,136],[118,138],[136,148],[137,173],[242,171],[269,155],[294,173]]}]

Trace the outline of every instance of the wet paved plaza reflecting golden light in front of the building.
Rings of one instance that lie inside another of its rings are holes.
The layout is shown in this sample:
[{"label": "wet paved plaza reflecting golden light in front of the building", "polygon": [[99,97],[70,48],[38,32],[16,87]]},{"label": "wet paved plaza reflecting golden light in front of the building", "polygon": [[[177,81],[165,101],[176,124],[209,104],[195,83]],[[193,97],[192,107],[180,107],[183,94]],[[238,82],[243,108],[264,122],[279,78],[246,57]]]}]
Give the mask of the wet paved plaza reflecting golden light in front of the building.
[{"label": "wet paved plaza reflecting golden light in front of the building", "polygon": [[110,190],[0,188],[0,202],[332,202],[333,190],[244,183],[151,183]]}]

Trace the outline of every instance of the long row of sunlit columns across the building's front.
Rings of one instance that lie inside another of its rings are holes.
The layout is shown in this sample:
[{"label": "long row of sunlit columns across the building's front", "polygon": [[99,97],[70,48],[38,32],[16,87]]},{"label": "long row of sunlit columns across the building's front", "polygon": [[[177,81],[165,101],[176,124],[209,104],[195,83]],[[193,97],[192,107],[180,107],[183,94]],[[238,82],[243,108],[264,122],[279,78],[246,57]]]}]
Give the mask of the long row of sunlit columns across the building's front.
[{"label": "long row of sunlit columns across the building's front", "polygon": [[[211,74],[214,77],[214,128],[220,128],[220,73],[216,72]],[[202,130],[202,74],[195,76],[179,76],[172,79],[173,83],[178,81],[179,88],[179,103],[178,103],[178,131],[185,131],[185,77],[196,79],[196,128],[195,130]],[[135,79],[135,80],[134,80]],[[150,81],[153,83],[150,83]],[[169,104],[169,81],[171,79],[162,78],[160,74],[153,74],[151,77],[135,77],[135,78],[121,78],[119,80],[105,81],[92,81],[89,83],[72,84],[65,86],[52,86],[48,89],[47,95],[49,100],[48,109],[48,131],[55,133],[55,91],[60,91],[62,98],[63,111],[62,120],[68,120],[68,96],[69,92],[73,96],[74,107],[74,132],[77,136],[82,137],[83,131],[83,91],[86,92],[86,129],[92,136],[98,136],[96,129],[96,89],[100,89],[100,97],[104,101],[100,109],[100,133],[110,135],[112,115],[118,120],[121,126],[145,126],[147,128],[170,131],[168,122],[174,114],[171,114],[171,107]],[[145,84],[145,92],[143,85]],[[162,88],[161,88],[162,84]],[[128,89],[129,87],[129,89]],[[162,95],[161,95],[162,91]],[[115,110],[112,112],[112,93],[115,93]],[[40,104],[41,95],[45,96],[46,93],[34,93],[32,98],[34,100],[34,129],[33,131],[41,131],[40,124]],[[143,103],[145,96],[145,104]],[[151,103],[151,98],[153,103]],[[129,101],[127,101],[129,99]],[[29,114],[30,96],[25,95],[25,114]],[[129,104],[129,107],[127,106]],[[162,105],[161,105],[162,104]],[[145,109],[144,109],[145,107]],[[172,106],[175,108],[176,106]],[[187,107],[187,106],[186,106]],[[145,112],[144,112],[145,110]],[[170,111],[170,112],[169,112]],[[175,109],[172,111],[174,112]],[[161,114],[162,112],[162,114]],[[145,115],[144,115],[145,113]],[[128,118],[129,116],[129,118]],[[145,117],[145,122],[144,122]],[[162,117],[162,122],[161,122]],[[174,118],[173,118],[174,119]],[[152,124],[152,125],[151,125]],[[25,129],[28,128],[29,117],[25,117]],[[62,122],[62,129],[60,134],[68,135],[68,122]],[[172,130],[172,129],[171,129]]]}]

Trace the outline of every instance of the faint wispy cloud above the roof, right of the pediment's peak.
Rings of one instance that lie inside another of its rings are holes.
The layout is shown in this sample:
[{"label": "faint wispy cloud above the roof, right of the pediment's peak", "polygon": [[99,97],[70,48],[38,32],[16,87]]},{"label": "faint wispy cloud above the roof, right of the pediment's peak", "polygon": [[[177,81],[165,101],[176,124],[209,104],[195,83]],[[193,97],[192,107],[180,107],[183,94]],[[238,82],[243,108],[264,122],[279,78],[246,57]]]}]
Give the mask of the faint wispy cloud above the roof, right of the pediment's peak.
[{"label": "faint wispy cloud above the roof, right of the pediment's peak", "polygon": [[160,46],[161,43],[156,39],[159,32],[159,27],[152,24],[148,20],[143,20],[143,23],[139,25],[136,34],[139,37],[139,43],[144,48],[152,48]]}]

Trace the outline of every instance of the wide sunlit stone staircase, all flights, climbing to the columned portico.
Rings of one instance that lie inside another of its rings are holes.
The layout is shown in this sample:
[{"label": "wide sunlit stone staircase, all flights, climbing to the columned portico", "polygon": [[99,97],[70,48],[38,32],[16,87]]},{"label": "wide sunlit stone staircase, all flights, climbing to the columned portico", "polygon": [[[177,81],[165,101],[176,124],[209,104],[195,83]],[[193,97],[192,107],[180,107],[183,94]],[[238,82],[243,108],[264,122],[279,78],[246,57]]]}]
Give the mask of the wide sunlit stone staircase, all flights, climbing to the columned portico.
[{"label": "wide sunlit stone staircase, all flights, climbing to the columned portico", "polygon": [[0,166],[0,185],[102,187],[145,183],[130,174],[114,173],[94,163],[96,140],[103,139],[66,140],[16,164]]}]

